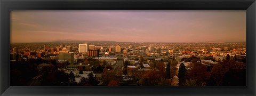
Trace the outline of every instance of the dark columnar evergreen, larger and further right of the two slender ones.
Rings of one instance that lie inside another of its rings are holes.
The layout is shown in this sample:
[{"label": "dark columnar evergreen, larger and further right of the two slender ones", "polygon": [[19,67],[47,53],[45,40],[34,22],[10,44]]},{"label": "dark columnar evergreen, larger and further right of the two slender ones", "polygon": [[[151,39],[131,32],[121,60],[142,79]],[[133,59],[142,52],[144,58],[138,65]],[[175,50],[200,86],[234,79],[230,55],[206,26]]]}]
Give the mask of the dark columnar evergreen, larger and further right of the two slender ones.
[{"label": "dark columnar evergreen, larger and further right of the two slender ones", "polygon": [[183,63],[181,63],[179,66],[179,74],[178,74],[179,85],[183,85],[183,83],[185,82],[186,72],[187,72],[187,69],[186,69],[185,65]]}]

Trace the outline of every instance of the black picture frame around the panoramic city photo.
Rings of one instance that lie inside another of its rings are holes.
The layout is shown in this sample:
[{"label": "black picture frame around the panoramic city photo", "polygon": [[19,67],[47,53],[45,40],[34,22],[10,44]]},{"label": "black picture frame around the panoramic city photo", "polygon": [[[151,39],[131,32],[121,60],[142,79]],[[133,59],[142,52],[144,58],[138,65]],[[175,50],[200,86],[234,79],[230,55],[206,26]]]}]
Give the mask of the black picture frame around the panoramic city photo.
[{"label": "black picture frame around the panoramic city photo", "polygon": [[[255,0],[1,0],[1,95],[256,95]],[[10,10],[246,10],[246,86],[10,86]]]}]

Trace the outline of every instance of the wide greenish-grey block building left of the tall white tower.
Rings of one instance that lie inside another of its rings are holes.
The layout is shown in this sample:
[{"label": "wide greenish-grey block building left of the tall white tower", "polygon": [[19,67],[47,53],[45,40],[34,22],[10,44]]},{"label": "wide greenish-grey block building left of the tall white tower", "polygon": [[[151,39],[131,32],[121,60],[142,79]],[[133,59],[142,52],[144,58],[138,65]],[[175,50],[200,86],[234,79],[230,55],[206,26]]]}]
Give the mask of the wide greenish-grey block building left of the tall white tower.
[{"label": "wide greenish-grey block building left of the tall white tower", "polygon": [[60,51],[59,60],[68,60],[70,64],[74,63],[74,53],[68,51]]}]

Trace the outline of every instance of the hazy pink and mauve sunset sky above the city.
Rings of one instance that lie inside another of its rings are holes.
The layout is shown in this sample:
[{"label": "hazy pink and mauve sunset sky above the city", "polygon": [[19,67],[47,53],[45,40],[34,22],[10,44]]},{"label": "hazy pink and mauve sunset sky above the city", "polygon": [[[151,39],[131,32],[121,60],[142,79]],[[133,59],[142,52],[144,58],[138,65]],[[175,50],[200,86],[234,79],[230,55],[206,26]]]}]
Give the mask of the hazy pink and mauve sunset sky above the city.
[{"label": "hazy pink and mauve sunset sky above the city", "polygon": [[245,42],[245,10],[12,10],[10,42]]}]

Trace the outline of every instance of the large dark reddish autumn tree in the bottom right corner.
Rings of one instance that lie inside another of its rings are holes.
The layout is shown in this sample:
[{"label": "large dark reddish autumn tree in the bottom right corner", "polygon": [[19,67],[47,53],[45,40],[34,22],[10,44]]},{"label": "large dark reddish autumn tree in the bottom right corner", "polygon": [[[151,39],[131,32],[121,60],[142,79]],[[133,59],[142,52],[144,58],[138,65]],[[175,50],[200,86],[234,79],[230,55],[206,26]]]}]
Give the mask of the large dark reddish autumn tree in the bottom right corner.
[{"label": "large dark reddish autumn tree in the bottom right corner", "polygon": [[207,85],[245,85],[245,64],[235,60],[223,60],[213,65]]}]

